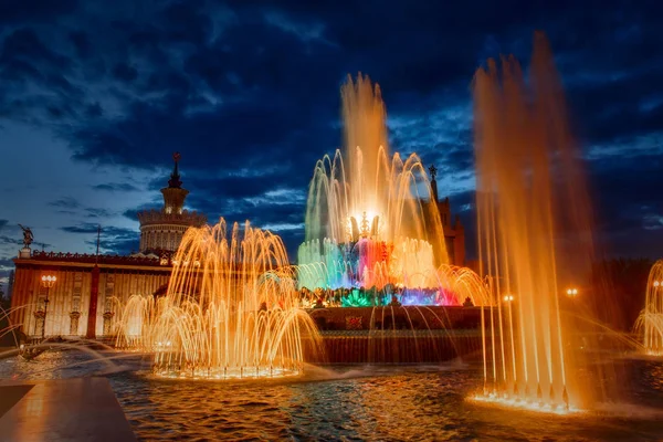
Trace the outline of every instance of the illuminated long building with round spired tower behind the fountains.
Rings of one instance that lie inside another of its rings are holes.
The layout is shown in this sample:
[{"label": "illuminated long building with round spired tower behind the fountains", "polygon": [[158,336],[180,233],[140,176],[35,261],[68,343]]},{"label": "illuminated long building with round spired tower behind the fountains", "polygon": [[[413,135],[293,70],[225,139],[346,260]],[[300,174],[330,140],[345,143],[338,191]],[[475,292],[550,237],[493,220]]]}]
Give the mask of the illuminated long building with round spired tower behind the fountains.
[{"label": "illuminated long building with round spired tower behind the fountains", "polygon": [[[109,335],[118,305],[131,295],[166,292],[177,250],[186,230],[207,222],[203,214],[183,210],[179,154],[168,187],[161,189],[161,210],[140,212],[140,251],[130,256],[78,253],[21,253],[14,259],[12,324],[28,337]],[[30,251],[28,249],[28,251]],[[42,276],[55,276],[51,288]],[[44,328],[45,327],[45,328]]]}]

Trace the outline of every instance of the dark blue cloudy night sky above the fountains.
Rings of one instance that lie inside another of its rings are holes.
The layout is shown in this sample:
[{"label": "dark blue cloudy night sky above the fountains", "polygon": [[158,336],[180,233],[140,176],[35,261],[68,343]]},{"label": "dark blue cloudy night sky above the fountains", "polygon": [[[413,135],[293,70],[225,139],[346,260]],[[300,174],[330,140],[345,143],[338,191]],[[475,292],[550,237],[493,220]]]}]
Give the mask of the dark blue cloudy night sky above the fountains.
[{"label": "dark blue cloudy night sky above the fountains", "polygon": [[105,253],[136,251],[136,212],[160,207],[176,150],[189,209],[271,229],[294,260],[315,161],[341,144],[339,87],[358,72],[382,87],[392,150],[435,164],[471,236],[472,76],[502,53],[526,64],[537,29],[564,78],[603,250],[656,257],[656,3],[0,0],[0,276],[18,223],[36,249],[93,252],[102,224]]}]

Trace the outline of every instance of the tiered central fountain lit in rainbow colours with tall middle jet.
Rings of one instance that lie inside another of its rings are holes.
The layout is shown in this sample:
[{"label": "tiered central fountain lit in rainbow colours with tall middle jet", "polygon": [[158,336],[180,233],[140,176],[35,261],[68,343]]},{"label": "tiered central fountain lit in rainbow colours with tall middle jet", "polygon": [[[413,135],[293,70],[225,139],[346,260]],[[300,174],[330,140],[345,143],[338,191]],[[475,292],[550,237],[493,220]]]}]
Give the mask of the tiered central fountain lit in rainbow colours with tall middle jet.
[{"label": "tiered central fountain lit in rainbow colours with tall middle jet", "polygon": [[379,86],[359,74],[356,82],[348,77],[341,97],[345,150],[315,166],[298,250],[299,288],[378,291],[369,296],[354,291],[347,298],[366,306],[385,305],[392,295],[422,305],[474,298],[475,292],[450,286],[449,276],[464,271],[449,265],[421,160],[389,152]]}]

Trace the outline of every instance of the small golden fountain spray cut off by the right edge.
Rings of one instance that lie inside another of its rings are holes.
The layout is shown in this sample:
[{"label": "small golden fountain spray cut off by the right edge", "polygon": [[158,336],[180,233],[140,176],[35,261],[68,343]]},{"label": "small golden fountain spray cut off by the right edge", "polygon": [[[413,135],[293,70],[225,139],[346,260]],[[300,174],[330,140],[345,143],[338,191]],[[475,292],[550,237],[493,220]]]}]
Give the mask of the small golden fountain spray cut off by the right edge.
[{"label": "small golden fountain spray cut off by the right edge", "polygon": [[650,271],[644,311],[635,328],[644,332],[644,351],[651,356],[663,356],[663,260],[656,261]]}]

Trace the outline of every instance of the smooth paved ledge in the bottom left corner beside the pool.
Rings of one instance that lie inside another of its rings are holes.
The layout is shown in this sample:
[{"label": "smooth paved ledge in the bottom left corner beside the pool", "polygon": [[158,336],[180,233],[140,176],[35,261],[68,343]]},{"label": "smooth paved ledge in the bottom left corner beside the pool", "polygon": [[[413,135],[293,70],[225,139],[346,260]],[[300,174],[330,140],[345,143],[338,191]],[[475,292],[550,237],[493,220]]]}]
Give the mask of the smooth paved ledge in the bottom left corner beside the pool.
[{"label": "smooth paved ledge in the bottom left corner beside the pool", "polygon": [[108,380],[0,386],[0,441],[135,441]]}]

